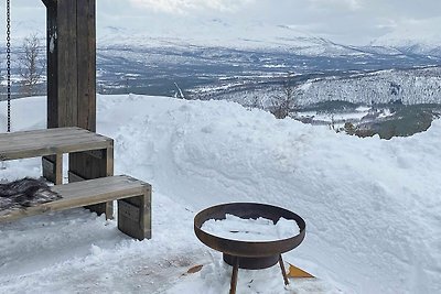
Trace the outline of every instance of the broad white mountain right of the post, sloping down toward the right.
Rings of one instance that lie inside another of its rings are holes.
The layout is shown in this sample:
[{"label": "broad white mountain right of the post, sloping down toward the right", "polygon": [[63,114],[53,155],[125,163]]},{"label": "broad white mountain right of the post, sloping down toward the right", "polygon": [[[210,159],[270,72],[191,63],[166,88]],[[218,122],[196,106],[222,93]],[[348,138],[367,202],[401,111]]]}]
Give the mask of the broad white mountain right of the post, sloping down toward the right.
[{"label": "broad white mountain right of the post, sloping down toward the right", "polygon": [[[179,22],[180,20],[178,20]],[[191,30],[189,29],[191,28]],[[227,23],[217,19],[198,23],[182,22],[173,26],[149,24],[149,30],[125,26],[104,26],[98,31],[98,47],[228,47],[239,50],[282,51],[303,56],[375,56],[402,55],[392,44],[373,42],[365,46],[341,44],[324,36],[314,35],[292,25],[268,23]],[[426,53],[412,51],[410,53]],[[439,56],[439,55],[435,55]]]}]

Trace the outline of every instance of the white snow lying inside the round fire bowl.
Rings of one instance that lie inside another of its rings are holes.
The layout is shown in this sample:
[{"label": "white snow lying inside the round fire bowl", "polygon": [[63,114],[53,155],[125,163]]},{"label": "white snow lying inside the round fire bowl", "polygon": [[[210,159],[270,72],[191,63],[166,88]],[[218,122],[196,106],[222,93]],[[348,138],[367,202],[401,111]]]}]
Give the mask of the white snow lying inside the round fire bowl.
[{"label": "white snow lying inside the round fire bowl", "polygon": [[201,229],[209,235],[237,241],[277,241],[300,233],[295,220],[283,217],[273,224],[263,217],[244,219],[226,214],[225,219],[208,219]]}]

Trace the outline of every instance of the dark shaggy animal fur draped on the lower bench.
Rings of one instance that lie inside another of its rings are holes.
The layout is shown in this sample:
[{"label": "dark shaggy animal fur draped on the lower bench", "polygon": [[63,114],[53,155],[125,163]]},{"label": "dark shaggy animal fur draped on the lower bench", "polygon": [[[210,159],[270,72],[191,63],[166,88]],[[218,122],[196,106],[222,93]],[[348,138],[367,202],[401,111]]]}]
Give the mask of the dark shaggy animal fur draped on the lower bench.
[{"label": "dark shaggy animal fur draped on the lower bench", "polygon": [[41,179],[24,177],[0,184],[0,210],[25,208],[60,199],[61,196]]}]

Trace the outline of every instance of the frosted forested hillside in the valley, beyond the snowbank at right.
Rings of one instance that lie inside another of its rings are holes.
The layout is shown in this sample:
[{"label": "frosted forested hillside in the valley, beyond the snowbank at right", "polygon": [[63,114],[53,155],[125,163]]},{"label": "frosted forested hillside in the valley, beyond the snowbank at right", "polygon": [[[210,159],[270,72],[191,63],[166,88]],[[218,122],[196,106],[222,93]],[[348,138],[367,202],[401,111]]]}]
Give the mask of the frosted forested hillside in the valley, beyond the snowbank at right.
[{"label": "frosted forested hillside in the valley, beyond the snowbank at right", "polygon": [[[291,85],[299,106],[333,100],[363,105],[389,104],[397,100],[405,105],[441,104],[440,74],[440,67],[390,69],[308,80],[292,77]],[[287,81],[286,77],[284,83]],[[206,89],[201,88],[195,92],[203,94],[204,90]],[[259,97],[263,106],[269,106],[272,97],[283,96],[282,90],[282,86],[255,87],[237,92],[226,88],[216,90],[215,97],[246,106],[251,104],[254,97]]]}]

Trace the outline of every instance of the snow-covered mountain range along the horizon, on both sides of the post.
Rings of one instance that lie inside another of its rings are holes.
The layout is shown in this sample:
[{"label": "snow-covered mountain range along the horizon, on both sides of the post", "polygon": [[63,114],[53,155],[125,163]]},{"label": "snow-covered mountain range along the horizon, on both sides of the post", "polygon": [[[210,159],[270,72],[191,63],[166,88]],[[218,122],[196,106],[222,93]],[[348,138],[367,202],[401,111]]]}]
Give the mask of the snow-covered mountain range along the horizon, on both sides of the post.
[{"label": "snow-covered mountain range along the horizon, on both sides of the post", "polygon": [[[149,20],[151,19],[151,22]],[[441,18],[440,18],[441,19]],[[369,56],[422,54],[441,56],[440,19],[394,28],[366,45],[336,42],[329,34],[312,33],[298,25],[220,18],[183,15],[136,17],[115,21],[97,15],[98,47],[202,46],[240,50],[289,51],[304,56]],[[437,26],[438,25],[438,26]],[[19,14],[12,20],[12,44],[30,34],[45,35],[44,11],[36,18]],[[0,31],[6,39],[6,31]]]}]

